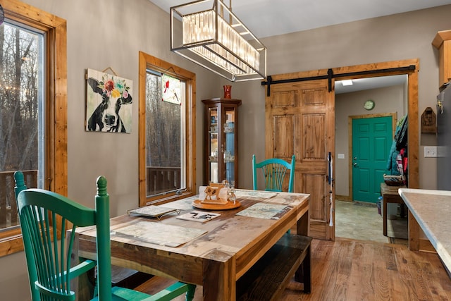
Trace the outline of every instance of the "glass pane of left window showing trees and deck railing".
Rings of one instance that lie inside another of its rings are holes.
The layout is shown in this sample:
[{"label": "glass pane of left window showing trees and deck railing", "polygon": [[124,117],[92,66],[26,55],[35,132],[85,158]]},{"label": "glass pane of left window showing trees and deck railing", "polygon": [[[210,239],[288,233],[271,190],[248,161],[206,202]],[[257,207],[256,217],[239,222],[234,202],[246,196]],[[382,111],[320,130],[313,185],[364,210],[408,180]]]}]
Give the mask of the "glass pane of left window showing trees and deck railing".
[{"label": "glass pane of left window showing trees and deck railing", "polygon": [[43,45],[42,33],[0,26],[0,228],[18,225],[14,171],[24,171],[29,188],[42,188]]}]

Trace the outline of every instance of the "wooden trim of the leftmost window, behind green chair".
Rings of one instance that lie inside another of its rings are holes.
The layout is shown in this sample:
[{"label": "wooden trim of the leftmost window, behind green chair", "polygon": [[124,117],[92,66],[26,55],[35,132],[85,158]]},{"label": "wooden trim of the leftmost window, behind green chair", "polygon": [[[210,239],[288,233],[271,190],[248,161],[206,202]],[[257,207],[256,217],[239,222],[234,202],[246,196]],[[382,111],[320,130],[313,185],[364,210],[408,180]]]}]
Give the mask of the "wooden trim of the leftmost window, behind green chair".
[{"label": "wooden trim of the leftmost window, behind green chair", "polygon": [[[67,196],[66,20],[16,0],[0,0],[5,17],[46,33],[46,189]],[[0,257],[23,250],[20,228],[0,233]]]}]

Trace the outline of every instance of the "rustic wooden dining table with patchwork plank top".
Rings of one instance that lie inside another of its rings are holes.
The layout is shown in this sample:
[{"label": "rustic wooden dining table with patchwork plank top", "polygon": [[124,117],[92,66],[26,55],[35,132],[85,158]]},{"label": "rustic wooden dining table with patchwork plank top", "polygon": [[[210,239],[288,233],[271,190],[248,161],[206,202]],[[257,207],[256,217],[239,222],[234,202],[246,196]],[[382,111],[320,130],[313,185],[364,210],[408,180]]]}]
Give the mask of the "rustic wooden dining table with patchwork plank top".
[{"label": "rustic wooden dining table with patchwork plank top", "polygon": [[[194,196],[161,205],[178,210],[161,219],[133,214],[112,218],[111,264],[202,285],[204,300],[235,300],[237,279],[290,228],[297,235],[309,234],[309,195],[235,194],[240,206],[227,210],[193,207]],[[180,219],[194,210],[221,215],[203,223]],[[95,235],[92,227],[78,228],[74,258],[95,259]]]}]

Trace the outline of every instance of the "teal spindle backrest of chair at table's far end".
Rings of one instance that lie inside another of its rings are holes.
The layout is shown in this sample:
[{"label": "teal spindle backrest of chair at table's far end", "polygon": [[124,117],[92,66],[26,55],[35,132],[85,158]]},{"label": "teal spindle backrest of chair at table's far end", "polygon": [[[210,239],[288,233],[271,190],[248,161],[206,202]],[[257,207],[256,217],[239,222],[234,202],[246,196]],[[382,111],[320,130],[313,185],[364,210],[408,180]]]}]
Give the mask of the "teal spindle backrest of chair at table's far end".
[{"label": "teal spindle backrest of chair at table's far end", "polygon": [[255,155],[252,155],[252,176],[254,179],[254,190],[258,190],[257,170],[261,170],[265,180],[266,191],[280,192],[283,189],[283,181],[287,172],[290,173],[288,180],[288,192],[295,189],[295,155],[291,157],[291,163],[283,159],[271,158],[257,163]]}]

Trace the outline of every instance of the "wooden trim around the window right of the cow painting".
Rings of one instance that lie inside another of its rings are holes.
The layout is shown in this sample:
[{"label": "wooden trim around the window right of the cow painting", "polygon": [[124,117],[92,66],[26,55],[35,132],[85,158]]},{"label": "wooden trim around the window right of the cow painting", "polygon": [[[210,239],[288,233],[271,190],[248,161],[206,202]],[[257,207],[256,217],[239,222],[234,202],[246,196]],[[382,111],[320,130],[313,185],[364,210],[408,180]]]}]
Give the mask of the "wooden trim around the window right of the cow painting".
[{"label": "wooden trim around the window right of the cow painting", "polygon": [[[171,63],[157,59],[154,56],[140,51],[139,60],[139,180],[140,180],[140,207],[149,203],[163,204],[175,199],[196,195],[196,75],[188,70],[175,66]],[[187,183],[186,190],[180,194],[168,193],[163,197],[147,197],[146,193],[146,73],[147,68],[161,71],[168,75],[182,78],[186,81],[186,162]]]}]

